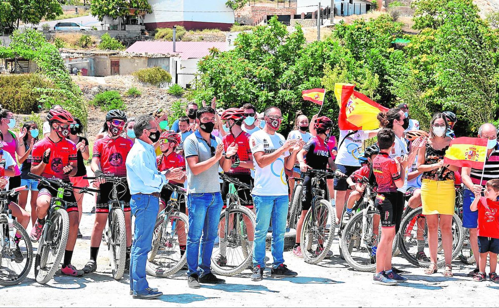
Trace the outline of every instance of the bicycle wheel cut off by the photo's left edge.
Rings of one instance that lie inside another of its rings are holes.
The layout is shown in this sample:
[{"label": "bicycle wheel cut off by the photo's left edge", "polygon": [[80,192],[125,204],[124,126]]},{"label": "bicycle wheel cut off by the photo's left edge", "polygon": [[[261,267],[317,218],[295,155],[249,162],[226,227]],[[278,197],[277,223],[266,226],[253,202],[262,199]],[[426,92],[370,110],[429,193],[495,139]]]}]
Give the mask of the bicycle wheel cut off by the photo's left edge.
[{"label": "bicycle wheel cut off by the photo's left edge", "polygon": [[17,237],[21,238],[16,246],[22,254],[22,261],[15,261],[16,249],[10,249],[10,241],[8,223],[5,217],[0,219],[0,241],[5,245],[0,246],[0,286],[14,286],[21,283],[31,269],[33,262],[33,247],[29,236],[24,228],[17,222],[13,221],[12,229]]}]

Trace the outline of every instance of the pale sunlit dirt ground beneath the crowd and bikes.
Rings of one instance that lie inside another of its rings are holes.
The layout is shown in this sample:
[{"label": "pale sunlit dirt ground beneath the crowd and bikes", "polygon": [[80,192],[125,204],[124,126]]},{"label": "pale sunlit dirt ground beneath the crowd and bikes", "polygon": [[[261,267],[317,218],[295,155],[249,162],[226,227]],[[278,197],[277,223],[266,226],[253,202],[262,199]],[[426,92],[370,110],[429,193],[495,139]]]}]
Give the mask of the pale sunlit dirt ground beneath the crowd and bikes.
[{"label": "pale sunlit dirt ground beneath the crowd and bikes", "polygon": [[[78,239],[72,259],[82,268],[90,255],[90,233],[94,214],[90,214],[93,198],[85,196],[81,221],[82,239]],[[37,244],[33,245],[36,248]],[[309,265],[295,258],[290,251],[284,253],[286,265],[298,277],[252,282],[250,271],[236,277],[226,277],[224,285],[203,285],[189,289],[185,271],[170,278],[149,277],[151,287],[164,293],[159,300],[144,302],[133,300],[128,275],[120,281],[111,276],[107,248],[101,245],[96,273],[73,278],[58,273],[48,284],[39,285],[33,270],[20,285],[0,287],[0,307],[495,307],[491,300],[498,298],[499,285],[492,282],[473,282],[465,273],[472,266],[455,262],[453,278],[438,274],[427,276],[423,269],[409,265],[396,257],[394,264],[410,272],[409,282],[395,287],[372,284],[372,274],[354,272],[339,258],[338,241],[332,245],[334,256],[318,265]],[[270,252],[267,256],[271,263]],[[268,273],[268,268],[265,271]]]}]

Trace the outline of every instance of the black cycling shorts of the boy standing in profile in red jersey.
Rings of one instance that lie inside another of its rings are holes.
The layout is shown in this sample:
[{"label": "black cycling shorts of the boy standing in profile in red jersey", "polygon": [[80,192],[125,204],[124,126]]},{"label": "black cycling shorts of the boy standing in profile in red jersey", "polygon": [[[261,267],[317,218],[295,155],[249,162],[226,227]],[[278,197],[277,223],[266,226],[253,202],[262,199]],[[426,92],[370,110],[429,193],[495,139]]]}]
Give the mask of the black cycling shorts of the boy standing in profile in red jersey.
[{"label": "black cycling shorts of the boy standing in profile in red jersey", "polygon": [[400,229],[400,221],[404,212],[404,194],[397,192],[378,192],[374,204],[381,216],[381,227]]}]

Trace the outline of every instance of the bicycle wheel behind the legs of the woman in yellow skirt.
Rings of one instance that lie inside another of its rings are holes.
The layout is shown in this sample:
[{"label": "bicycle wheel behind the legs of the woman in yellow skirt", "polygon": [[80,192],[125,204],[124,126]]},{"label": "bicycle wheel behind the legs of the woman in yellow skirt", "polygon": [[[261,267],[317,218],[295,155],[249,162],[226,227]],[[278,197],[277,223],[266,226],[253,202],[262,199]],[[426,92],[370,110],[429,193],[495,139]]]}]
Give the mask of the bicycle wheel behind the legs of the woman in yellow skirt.
[{"label": "bicycle wheel behind the legs of the woman in yellow skirt", "polygon": [[[430,262],[424,260],[418,260],[416,254],[418,253],[418,238],[420,245],[424,245],[424,253],[426,256],[430,255],[430,250],[428,248],[428,227],[426,221],[423,219],[422,214],[423,209],[421,207],[414,209],[402,220],[400,224],[400,240],[399,247],[400,251],[407,259],[407,261],[419,267],[428,267]],[[423,225],[422,225],[423,224]],[[419,225],[419,226],[418,226]],[[463,246],[463,223],[459,219],[458,215],[453,215],[452,217],[452,260],[454,260],[461,252]],[[440,233],[438,246],[442,246],[442,239]],[[438,249],[437,252],[437,265],[443,266],[445,264],[444,250]]]}]

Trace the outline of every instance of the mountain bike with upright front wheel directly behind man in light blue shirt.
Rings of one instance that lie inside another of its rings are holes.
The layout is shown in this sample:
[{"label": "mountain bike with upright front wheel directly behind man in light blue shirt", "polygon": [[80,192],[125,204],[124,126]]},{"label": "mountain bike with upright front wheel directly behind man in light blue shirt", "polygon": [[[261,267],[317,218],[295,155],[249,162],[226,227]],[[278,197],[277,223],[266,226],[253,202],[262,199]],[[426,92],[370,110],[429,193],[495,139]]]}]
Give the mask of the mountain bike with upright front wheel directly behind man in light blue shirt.
[{"label": "mountain bike with upright front wheel directly behind man in light blue shirt", "polygon": [[[102,232],[102,240],[107,245],[109,252],[109,263],[111,272],[115,280],[120,280],[123,277],[126,269],[126,222],[124,206],[125,201],[120,200],[118,196],[118,187],[121,186],[121,191],[127,189],[126,177],[118,177],[112,174],[106,174],[107,183],[112,183],[111,196],[109,198],[109,213],[107,214],[107,226]],[[84,179],[95,180],[94,176],[84,176]],[[130,201],[129,201],[130,202]]]}]

